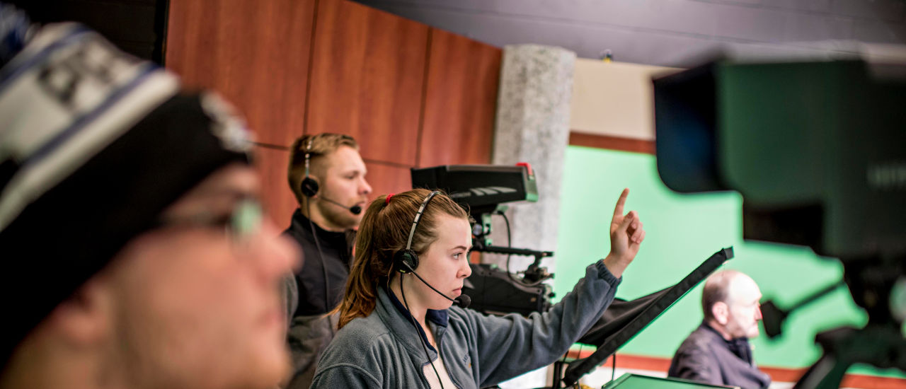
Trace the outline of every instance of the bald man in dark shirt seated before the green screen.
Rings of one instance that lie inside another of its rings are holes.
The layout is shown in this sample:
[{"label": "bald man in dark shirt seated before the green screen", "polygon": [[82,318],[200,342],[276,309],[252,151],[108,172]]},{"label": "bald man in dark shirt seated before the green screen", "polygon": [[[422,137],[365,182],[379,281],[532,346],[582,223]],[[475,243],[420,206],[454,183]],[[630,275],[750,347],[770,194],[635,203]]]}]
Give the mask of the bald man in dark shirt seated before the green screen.
[{"label": "bald man in dark shirt seated before the green screen", "polygon": [[705,281],[705,319],[679,345],[668,375],[708,384],[765,388],[771,378],[755,365],[748,339],[758,336],[758,285],[737,270],[719,271]]}]

